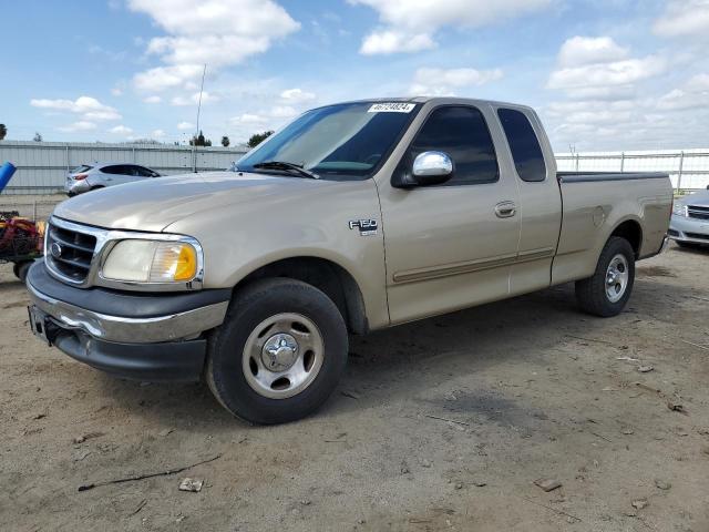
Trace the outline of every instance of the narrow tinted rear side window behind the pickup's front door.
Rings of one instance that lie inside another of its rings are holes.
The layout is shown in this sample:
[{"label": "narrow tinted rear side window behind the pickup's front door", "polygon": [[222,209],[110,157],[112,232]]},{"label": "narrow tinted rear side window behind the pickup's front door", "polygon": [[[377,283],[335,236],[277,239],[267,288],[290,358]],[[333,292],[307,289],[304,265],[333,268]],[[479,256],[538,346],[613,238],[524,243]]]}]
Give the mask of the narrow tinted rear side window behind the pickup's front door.
[{"label": "narrow tinted rear side window behind the pickup's front door", "polygon": [[540,141],[526,115],[514,109],[499,109],[497,116],[512,151],[514,166],[523,181],[546,178],[546,164]]}]

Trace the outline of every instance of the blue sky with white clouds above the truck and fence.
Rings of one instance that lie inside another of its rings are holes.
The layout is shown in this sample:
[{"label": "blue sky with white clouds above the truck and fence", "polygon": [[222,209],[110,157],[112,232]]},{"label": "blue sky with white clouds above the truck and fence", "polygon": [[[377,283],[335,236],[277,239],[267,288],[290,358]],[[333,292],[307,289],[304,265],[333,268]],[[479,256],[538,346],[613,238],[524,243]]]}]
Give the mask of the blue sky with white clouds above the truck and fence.
[{"label": "blue sky with white clouds above the truck and fence", "polygon": [[[709,0],[3,2],[9,140],[243,142],[310,106],[535,106],[555,150],[707,147]],[[11,44],[10,44],[11,43]]]}]

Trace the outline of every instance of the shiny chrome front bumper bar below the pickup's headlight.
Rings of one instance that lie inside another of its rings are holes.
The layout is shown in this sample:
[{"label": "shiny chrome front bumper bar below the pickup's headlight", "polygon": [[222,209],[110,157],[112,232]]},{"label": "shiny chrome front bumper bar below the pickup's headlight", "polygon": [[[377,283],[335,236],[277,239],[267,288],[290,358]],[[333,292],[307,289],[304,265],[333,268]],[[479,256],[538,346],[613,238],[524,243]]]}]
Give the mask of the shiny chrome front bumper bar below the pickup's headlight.
[{"label": "shiny chrome front bumper bar below the pickup's headlight", "polygon": [[110,316],[61,301],[42,294],[28,283],[32,305],[65,329],[86,332],[93,338],[125,344],[155,344],[189,339],[222,325],[228,301],[156,317]]}]

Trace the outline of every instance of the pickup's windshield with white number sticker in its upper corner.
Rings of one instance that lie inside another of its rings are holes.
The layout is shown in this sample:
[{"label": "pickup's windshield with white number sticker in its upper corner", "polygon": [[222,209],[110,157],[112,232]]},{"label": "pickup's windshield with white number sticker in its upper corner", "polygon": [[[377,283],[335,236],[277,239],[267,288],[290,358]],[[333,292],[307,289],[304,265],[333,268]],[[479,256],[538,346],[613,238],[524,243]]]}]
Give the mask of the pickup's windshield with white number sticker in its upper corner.
[{"label": "pickup's windshield with white number sticker in its upper corner", "polygon": [[308,111],[236,162],[240,172],[273,161],[296,164],[323,180],[369,177],[415,115],[414,103],[342,103]]}]

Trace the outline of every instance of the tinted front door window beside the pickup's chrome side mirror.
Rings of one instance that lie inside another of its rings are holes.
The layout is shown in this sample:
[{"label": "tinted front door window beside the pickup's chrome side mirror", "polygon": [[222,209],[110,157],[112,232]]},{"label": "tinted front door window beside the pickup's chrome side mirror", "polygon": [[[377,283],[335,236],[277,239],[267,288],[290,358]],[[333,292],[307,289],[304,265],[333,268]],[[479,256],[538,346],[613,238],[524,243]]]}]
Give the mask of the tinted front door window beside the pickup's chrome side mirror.
[{"label": "tinted front door window beside the pickup's chrome side mirror", "polygon": [[490,130],[475,108],[449,105],[435,109],[411,144],[411,161],[429,151],[448,153],[453,160],[453,177],[445,185],[476,185],[494,183],[499,178]]}]

